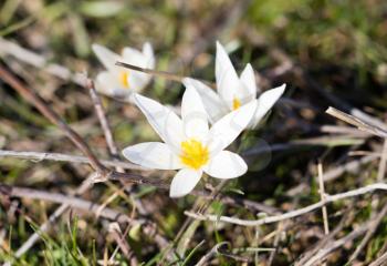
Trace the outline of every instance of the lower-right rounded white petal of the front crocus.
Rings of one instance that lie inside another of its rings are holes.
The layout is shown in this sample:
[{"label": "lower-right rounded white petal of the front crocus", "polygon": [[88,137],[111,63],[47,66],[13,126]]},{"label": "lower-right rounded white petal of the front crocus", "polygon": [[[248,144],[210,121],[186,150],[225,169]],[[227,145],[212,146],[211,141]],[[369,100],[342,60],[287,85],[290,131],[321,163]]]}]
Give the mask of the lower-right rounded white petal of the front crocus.
[{"label": "lower-right rounded white petal of the front crocus", "polygon": [[248,165],[237,153],[221,151],[211,158],[203,171],[212,177],[227,180],[243,175],[248,171]]}]

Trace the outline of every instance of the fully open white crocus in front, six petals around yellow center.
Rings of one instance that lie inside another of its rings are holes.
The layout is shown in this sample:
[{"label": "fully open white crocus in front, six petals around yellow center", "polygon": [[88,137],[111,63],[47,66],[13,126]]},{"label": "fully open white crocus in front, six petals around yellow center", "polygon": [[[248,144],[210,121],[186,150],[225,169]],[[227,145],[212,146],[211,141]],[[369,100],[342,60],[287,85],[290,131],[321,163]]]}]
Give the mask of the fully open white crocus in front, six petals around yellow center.
[{"label": "fully open white crocus in front, six petals around yellow center", "polygon": [[236,153],[223,151],[244,130],[257,109],[251,101],[230,112],[211,127],[199,93],[187,86],[181,101],[181,119],[170,109],[139,94],[133,101],[158,133],[161,142],[146,142],[124,149],[124,156],[135,164],[157,170],[179,170],[169,195],[190,193],[207,173],[216,178],[243,175],[248,166]]}]

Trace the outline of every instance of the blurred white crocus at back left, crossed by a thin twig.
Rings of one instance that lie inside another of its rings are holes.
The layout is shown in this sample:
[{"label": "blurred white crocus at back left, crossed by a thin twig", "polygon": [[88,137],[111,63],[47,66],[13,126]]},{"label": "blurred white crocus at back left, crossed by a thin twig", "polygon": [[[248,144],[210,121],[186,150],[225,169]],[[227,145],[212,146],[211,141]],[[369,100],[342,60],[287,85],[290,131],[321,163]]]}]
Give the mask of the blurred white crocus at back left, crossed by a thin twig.
[{"label": "blurred white crocus at back left, crossed by a thin twig", "polygon": [[124,69],[115,63],[122,61],[140,68],[154,69],[155,55],[150,43],[144,43],[143,51],[124,48],[122,55],[100,44],[93,44],[92,49],[106,69],[96,76],[95,86],[100,93],[129,100],[132,92],[140,92],[149,83],[151,79],[149,74]]}]

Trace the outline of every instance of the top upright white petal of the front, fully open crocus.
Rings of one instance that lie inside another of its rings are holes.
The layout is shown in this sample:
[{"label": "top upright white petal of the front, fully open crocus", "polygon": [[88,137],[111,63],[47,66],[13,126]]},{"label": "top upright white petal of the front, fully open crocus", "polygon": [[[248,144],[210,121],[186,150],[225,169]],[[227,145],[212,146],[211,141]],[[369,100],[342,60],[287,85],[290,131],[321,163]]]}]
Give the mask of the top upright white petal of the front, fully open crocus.
[{"label": "top upright white petal of the front, fully open crocus", "polygon": [[203,140],[208,134],[208,119],[201,99],[191,85],[188,85],[181,101],[181,119],[185,135]]}]

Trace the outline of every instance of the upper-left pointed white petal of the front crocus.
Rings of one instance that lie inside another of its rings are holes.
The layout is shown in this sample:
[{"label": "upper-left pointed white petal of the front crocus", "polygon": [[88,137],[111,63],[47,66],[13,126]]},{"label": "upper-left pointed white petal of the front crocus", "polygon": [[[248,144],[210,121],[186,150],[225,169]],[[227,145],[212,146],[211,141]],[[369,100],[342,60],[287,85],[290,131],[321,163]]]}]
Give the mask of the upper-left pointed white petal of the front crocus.
[{"label": "upper-left pointed white petal of the front crocus", "polygon": [[151,127],[161,137],[161,140],[171,146],[175,151],[180,149],[184,141],[182,122],[177,114],[160,103],[134,94],[133,101],[142,110]]}]

